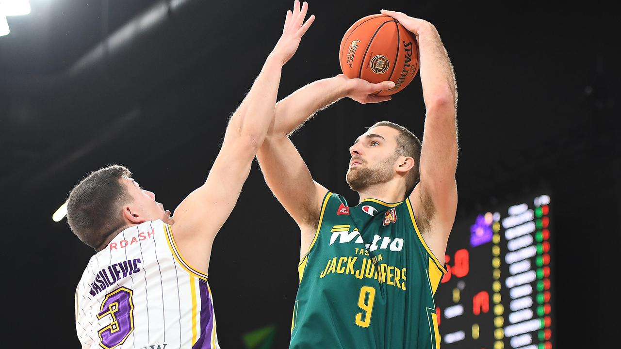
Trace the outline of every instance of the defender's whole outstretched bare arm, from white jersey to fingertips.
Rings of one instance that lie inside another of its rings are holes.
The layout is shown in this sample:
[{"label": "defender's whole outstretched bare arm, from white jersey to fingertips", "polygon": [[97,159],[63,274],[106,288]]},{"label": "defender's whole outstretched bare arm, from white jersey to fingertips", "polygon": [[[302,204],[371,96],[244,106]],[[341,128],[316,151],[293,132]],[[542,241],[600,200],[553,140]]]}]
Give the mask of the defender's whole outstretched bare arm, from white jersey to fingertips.
[{"label": "defender's whole outstretched bare arm, from white jersey to fingertips", "polygon": [[307,8],[306,2],[300,6],[296,0],[293,11],[287,12],[283,34],[231,117],[205,184],[189,194],[175,210],[176,245],[188,263],[201,270],[209,268],[215,235],[235,206],[252,160],[273,120],[282,66],[294,55],[314,20],[311,16],[304,22]]}]

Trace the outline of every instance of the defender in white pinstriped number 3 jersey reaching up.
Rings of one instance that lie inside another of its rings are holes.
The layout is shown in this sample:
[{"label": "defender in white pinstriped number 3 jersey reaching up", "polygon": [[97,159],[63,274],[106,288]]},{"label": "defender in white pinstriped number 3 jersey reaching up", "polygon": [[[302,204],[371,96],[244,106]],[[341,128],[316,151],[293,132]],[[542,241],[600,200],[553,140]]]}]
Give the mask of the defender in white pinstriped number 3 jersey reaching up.
[{"label": "defender in white pinstriped number 3 jersey reaching up", "polygon": [[219,348],[207,284],[215,235],[235,206],[273,122],[281,70],[314,20],[306,2],[233,114],[206,182],[174,217],[123,166],[95,171],[68,199],[71,230],[97,252],[76,289],[83,348]]}]

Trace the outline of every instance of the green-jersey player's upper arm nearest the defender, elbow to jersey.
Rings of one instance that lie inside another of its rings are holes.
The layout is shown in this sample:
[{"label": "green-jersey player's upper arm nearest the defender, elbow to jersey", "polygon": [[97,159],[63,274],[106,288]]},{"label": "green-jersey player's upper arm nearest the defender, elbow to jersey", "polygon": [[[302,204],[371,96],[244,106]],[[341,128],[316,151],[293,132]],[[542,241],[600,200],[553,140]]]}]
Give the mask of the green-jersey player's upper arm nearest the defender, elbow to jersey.
[{"label": "green-jersey player's upper arm nearest the defender, elbow to jersey", "polygon": [[327,189],[312,179],[296,147],[284,135],[268,135],[256,153],[265,181],[302,231],[317,227]]}]

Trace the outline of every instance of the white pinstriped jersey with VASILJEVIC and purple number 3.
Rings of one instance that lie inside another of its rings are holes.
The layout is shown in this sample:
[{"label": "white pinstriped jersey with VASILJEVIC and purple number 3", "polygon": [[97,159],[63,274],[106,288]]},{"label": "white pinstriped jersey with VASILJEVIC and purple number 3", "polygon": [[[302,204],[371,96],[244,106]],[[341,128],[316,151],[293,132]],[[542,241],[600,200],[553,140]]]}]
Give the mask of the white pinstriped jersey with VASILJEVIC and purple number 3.
[{"label": "white pinstriped jersey with VASILJEVIC and purple number 3", "polygon": [[120,232],[76,289],[76,331],[91,348],[220,348],[207,274],[186,263],[170,225]]}]

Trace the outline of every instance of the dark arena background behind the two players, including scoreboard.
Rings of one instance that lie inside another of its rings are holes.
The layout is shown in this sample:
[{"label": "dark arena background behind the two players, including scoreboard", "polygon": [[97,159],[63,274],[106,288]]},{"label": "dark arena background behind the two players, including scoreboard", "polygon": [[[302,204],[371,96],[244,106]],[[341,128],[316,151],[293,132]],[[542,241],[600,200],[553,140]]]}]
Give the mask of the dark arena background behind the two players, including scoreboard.
[{"label": "dark arena background behind the two players, including scoreboard", "polygon": [[[113,163],[167,209],[200,186],[292,1],[29,4],[0,37],[0,346],[79,348],[75,287],[94,251],[52,215]],[[621,85],[608,7],[309,2],[317,19],[279,99],[340,73],[345,30],[382,8],[435,24],[455,67],[459,203],[435,297],[442,348],[619,346]],[[315,180],[357,202],[345,182],[353,140],[384,119],[421,137],[424,114],[416,76],[390,102],[337,102],[292,140]],[[255,161],[211,256],[222,348],[288,346],[299,239]]]}]

